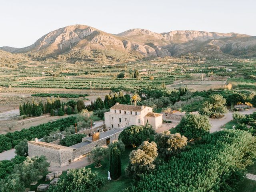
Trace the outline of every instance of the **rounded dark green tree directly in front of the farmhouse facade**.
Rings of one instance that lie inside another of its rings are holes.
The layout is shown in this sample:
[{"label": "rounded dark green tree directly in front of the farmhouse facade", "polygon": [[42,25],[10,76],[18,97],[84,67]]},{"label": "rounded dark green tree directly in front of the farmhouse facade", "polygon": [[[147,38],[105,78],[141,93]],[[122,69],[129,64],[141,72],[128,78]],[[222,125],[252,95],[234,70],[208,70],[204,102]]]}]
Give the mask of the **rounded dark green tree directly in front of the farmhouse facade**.
[{"label": "rounded dark green tree directly in front of the farmhouse facade", "polygon": [[139,146],[152,133],[154,133],[154,130],[148,123],[145,126],[132,125],[120,133],[118,140],[122,140],[125,146]]}]

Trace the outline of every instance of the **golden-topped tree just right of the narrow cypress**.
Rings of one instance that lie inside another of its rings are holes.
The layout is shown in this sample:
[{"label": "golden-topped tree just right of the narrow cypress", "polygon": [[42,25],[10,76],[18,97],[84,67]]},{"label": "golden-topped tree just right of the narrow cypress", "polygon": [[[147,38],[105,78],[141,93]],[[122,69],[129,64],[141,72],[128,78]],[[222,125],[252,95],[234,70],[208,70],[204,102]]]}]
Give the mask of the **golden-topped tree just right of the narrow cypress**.
[{"label": "golden-topped tree just right of the narrow cypress", "polygon": [[132,178],[138,178],[140,174],[155,168],[154,160],[158,156],[156,143],[144,141],[137,150],[133,150],[129,155],[129,164],[126,174]]}]

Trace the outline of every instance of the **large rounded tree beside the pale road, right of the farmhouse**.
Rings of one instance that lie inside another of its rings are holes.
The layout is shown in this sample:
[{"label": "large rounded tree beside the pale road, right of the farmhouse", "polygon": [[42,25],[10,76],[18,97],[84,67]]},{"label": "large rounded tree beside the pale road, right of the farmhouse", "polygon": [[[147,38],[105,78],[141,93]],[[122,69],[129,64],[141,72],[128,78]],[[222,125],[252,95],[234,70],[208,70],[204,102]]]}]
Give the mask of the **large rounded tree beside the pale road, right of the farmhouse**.
[{"label": "large rounded tree beside the pale road, right of the farmhouse", "polygon": [[201,115],[207,115],[211,118],[218,118],[227,113],[227,107],[225,104],[226,99],[223,98],[222,95],[210,95],[209,99],[202,104],[202,108],[199,110],[199,113]]}]

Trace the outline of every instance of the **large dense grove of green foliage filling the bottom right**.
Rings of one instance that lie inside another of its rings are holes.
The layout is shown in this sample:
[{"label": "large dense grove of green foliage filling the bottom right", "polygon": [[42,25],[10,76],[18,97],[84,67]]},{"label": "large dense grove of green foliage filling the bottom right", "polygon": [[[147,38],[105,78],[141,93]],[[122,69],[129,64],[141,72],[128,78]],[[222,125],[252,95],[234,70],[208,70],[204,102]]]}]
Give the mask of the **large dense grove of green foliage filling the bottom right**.
[{"label": "large dense grove of green foliage filling the bottom right", "polygon": [[255,157],[254,142],[245,131],[208,134],[190,150],[144,174],[137,186],[126,191],[142,192],[145,187],[147,192],[234,191]]}]

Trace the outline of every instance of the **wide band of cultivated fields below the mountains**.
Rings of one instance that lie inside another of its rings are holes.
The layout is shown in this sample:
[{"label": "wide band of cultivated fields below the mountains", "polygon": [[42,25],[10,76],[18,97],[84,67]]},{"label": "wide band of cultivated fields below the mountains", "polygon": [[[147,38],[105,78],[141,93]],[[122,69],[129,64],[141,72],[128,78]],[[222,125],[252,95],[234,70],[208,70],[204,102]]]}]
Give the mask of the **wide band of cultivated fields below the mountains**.
[{"label": "wide band of cultivated fields below the mountains", "polygon": [[[134,70],[140,72],[140,78],[133,78]],[[124,78],[116,77],[120,72],[125,74]],[[171,85],[185,80],[202,81],[201,76],[204,76],[204,81],[210,77],[217,80],[231,77],[228,82],[234,84],[235,88],[256,89],[255,80],[245,78],[249,72],[252,76],[256,75],[256,60],[192,61],[173,58],[108,65],[93,62],[24,62],[14,69],[3,67],[0,72],[0,86],[83,90],[90,89],[91,83],[94,90],[127,90],[154,88],[162,83]]]}]

